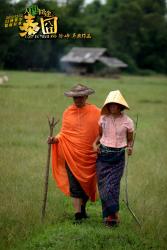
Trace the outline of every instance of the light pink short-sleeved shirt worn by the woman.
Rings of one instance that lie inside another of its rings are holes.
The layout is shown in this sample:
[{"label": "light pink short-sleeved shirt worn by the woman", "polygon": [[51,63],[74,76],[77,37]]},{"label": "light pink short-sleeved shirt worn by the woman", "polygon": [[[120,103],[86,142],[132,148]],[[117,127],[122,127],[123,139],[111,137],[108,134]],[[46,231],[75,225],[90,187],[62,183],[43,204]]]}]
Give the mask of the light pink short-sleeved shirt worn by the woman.
[{"label": "light pink short-sleeved shirt worn by the woman", "polygon": [[107,147],[126,147],[127,132],[134,131],[132,119],[123,113],[117,118],[114,118],[112,115],[102,115],[99,125],[103,131],[100,143]]}]

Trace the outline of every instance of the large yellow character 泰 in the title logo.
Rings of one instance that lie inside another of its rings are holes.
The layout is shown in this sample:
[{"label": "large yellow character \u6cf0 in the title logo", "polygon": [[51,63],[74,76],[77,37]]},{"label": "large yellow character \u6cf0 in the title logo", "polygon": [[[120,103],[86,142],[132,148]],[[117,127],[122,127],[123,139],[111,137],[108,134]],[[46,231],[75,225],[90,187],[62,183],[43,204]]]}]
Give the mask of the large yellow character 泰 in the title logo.
[{"label": "large yellow character \u6cf0 in the title logo", "polygon": [[24,31],[22,33],[19,33],[21,37],[26,36],[27,34],[29,36],[34,36],[40,29],[38,26],[38,22],[34,22],[35,16],[32,16],[28,14],[24,17],[26,19],[26,22],[23,23],[22,26],[19,26],[21,31]]}]

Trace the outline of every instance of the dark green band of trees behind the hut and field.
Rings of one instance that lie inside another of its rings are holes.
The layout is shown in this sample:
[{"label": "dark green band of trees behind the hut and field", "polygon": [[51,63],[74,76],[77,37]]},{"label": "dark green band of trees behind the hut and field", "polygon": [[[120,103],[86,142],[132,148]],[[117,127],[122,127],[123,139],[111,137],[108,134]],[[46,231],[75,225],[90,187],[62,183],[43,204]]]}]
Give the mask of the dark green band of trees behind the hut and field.
[{"label": "dark green band of trees behind the hut and field", "polygon": [[[33,1],[34,3],[34,1]],[[38,0],[40,9],[58,16],[59,33],[90,33],[92,39],[31,39],[19,37],[18,26],[5,28],[6,16],[23,14],[29,0],[0,2],[0,67],[60,70],[59,59],[73,46],[105,47],[129,65],[129,70],[167,73],[167,13],[165,0]]]}]

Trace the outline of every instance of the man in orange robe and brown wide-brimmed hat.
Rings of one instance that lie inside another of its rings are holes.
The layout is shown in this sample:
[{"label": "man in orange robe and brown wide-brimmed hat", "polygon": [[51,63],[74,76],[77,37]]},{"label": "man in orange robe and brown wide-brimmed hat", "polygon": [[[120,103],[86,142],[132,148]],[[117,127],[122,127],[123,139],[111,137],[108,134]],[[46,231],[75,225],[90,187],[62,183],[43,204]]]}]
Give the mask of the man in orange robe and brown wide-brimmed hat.
[{"label": "man in orange robe and brown wide-brimmed hat", "polygon": [[87,200],[96,199],[96,152],[92,144],[99,133],[100,109],[86,103],[92,93],[93,89],[81,84],[64,93],[73,97],[74,104],[63,113],[60,133],[48,138],[53,144],[53,177],[61,191],[73,197],[77,222],[87,218]]}]

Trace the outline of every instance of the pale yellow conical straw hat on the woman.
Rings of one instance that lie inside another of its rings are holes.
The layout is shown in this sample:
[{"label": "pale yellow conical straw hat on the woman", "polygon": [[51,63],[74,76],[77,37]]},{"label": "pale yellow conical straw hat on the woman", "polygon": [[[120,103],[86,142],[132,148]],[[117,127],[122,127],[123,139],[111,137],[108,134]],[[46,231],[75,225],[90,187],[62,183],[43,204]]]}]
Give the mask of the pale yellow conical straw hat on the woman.
[{"label": "pale yellow conical straw hat on the woman", "polygon": [[124,106],[125,109],[129,109],[129,105],[127,104],[127,102],[125,101],[123,95],[121,94],[121,92],[119,90],[111,91],[108,94],[108,96],[104,102],[104,105],[102,107],[102,110],[101,110],[102,114],[108,113],[108,109],[107,109],[108,103],[118,103],[118,104],[121,104],[122,106]]}]

